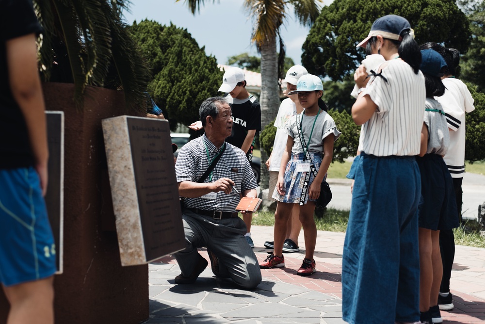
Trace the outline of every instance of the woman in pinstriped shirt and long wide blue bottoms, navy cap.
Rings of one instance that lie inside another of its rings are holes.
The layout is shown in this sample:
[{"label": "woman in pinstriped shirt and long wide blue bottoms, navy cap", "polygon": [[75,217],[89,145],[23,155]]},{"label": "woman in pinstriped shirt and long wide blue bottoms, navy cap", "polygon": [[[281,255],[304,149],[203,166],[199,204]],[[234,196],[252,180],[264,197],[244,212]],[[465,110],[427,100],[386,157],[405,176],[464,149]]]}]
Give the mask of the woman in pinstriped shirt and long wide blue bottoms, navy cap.
[{"label": "woman in pinstriped shirt and long wide blue bottoms, navy cap", "polygon": [[358,44],[386,62],[370,81],[363,65],[354,75],[352,118],[364,127],[342,257],[342,317],[352,324],[420,320],[415,156],[426,96],[413,35],[405,18],[388,15]]}]

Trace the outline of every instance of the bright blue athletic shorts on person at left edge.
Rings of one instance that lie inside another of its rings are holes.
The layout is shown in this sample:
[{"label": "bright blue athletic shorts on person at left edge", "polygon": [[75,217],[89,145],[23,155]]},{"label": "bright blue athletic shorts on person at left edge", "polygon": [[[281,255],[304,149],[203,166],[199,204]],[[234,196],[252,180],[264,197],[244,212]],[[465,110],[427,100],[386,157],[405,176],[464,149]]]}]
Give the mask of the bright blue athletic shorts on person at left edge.
[{"label": "bright blue athletic shorts on person at left edge", "polygon": [[8,287],[53,275],[55,253],[37,172],[0,170],[0,282]]}]

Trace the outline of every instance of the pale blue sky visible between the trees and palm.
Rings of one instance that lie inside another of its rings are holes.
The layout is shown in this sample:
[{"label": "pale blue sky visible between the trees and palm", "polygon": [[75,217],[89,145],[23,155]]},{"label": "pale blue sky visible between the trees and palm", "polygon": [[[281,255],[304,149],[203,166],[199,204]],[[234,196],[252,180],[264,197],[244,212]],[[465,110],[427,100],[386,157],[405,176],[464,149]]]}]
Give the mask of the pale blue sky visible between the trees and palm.
[{"label": "pale blue sky visible between the trees and palm", "polygon": [[[324,0],[325,4],[332,0]],[[124,13],[129,24],[134,20],[155,20],[162,25],[170,22],[177,27],[186,28],[200,47],[205,46],[206,54],[216,57],[217,62],[226,64],[227,58],[248,52],[258,55],[251,44],[252,21],[242,7],[242,0],[220,0],[212,3],[205,0],[200,14],[193,16],[184,1],[175,0],[131,0],[131,13]],[[300,26],[292,12],[281,28],[286,45],[286,55],[295,64],[301,64],[301,47],[307,38],[309,28]]]}]

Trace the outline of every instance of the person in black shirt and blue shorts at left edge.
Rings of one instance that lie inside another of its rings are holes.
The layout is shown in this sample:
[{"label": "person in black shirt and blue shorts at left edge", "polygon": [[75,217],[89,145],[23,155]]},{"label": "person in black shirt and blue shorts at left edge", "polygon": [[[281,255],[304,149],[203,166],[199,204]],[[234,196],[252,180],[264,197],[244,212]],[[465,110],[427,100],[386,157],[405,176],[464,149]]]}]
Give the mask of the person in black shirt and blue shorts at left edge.
[{"label": "person in black shirt and blue shorts at left edge", "polygon": [[55,244],[43,195],[48,146],[32,1],[0,0],[0,282],[7,324],[54,323]]}]

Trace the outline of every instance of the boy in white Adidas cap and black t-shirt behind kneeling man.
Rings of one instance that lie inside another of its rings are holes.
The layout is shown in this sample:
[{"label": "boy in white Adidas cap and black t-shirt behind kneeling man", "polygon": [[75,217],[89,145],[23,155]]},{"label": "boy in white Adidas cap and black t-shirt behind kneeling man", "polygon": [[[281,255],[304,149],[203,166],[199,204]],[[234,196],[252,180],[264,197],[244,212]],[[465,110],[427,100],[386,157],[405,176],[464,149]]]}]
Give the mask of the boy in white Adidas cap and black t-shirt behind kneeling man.
[{"label": "boy in white Adidas cap and black t-shirt behind kneeling man", "polygon": [[[261,107],[259,102],[246,90],[244,71],[239,67],[230,67],[222,78],[219,91],[225,92],[224,98],[232,109],[232,133],[226,138],[226,142],[240,147],[251,162],[253,158],[254,138],[256,131],[261,130]],[[197,121],[189,126],[190,129],[200,130],[202,123]],[[243,214],[243,220],[247,227],[246,241],[254,247],[251,239],[251,213]]]}]

